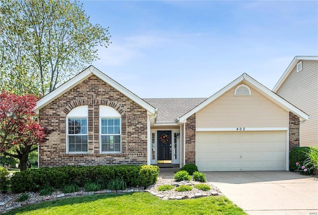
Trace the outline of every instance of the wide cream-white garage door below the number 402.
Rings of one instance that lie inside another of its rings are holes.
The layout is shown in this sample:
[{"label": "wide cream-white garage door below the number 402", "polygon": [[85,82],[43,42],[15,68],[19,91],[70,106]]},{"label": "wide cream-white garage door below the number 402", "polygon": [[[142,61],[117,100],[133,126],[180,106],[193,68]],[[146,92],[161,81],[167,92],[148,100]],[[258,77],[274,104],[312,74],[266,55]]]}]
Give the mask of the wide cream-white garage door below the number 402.
[{"label": "wide cream-white garage door below the number 402", "polygon": [[199,171],[286,170],[286,131],[197,132]]}]

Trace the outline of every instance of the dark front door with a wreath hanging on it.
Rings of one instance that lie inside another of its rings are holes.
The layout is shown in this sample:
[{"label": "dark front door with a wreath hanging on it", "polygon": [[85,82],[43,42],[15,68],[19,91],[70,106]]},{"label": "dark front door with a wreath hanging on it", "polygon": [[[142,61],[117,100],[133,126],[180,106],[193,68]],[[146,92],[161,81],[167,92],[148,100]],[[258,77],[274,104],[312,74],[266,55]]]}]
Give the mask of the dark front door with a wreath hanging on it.
[{"label": "dark front door with a wreath hanging on it", "polygon": [[157,131],[158,136],[158,160],[171,161],[171,131]]}]

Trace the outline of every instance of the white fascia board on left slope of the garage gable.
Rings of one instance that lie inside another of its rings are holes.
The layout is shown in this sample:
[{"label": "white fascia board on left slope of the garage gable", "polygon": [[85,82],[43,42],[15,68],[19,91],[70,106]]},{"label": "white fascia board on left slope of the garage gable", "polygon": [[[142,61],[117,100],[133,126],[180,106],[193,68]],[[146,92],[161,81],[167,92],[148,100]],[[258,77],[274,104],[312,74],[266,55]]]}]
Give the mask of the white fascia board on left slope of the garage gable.
[{"label": "white fascia board on left slope of the garage gable", "polygon": [[230,84],[228,84],[226,87],[222,88],[219,92],[217,92],[216,94],[214,94],[213,96],[211,96],[210,98],[208,98],[207,100],[205,100],[204,102],[202,102],[200,105],[198,105],[197,107],[193,108],[192,110],[190,110],[189,112],[187,112],[186,114],[184,114],[183,116],[180,117],[179,121],[184,121],[186,120],[188,117],[190,117],[192,114],[198,112],[199,110],[201,110],[202,108],[206,107],[207,105],[209,105],[210,103],[212,103],[214,100],[218,99],[220,96],[222,96],[223,94],[225,94],[227,91],[229,91],[230,89],[232,89],[234,86],[236,86],[237,84],[239,84],[241,81],[244,80],[244,76],[246,74],[244,73],[243,75],[239,76],[239,78],[237,78],[236,80],[234,80],[233,82],[231,82]]}]

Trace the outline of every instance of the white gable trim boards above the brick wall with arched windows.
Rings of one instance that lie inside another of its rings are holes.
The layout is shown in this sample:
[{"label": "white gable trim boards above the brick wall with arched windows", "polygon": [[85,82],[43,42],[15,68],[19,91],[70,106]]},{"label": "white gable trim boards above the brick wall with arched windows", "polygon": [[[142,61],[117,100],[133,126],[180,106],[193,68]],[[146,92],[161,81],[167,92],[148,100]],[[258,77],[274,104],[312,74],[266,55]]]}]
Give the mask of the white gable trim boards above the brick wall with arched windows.
[{"label": "white gable trim boards above the brick wall with arched windows", "polygon": [[38,112],[39,109],[45,107],[50,102],[60,97],[62,94],[64,94],[68,90],[74,88],[83,80],[90,77],[91,75],[95,75],[96,77],[100,78],[102,81],[109,84],[111,87],[118,90],[120,93],[122,93],[123,95],[125,95],[126,97],[128,97],[129,99],[131,99],[132,101],[140,105],[141,107],[145,108],[151,114],[154,114],[157,111],[156,108],[154,108],[153,106],[151,106],[150,104],[148,104],[147,102],[145,102],[144,100],[136,96],[134,93],[132,93],[131,91],[129,91],[122,85],[118,84],[113,79],[109,78],[107,75],[105,75],[104,73],[96,69],[94,66],[89,66],[85,70],[80,72],[78,75],[76,75],[75,77],[65,82],[63,85],[61,85],[60,87],[58,87],[57,89],[55,89],[54,91],[50,92],[45,97],[40,99],[36,103],[35,112]]}]

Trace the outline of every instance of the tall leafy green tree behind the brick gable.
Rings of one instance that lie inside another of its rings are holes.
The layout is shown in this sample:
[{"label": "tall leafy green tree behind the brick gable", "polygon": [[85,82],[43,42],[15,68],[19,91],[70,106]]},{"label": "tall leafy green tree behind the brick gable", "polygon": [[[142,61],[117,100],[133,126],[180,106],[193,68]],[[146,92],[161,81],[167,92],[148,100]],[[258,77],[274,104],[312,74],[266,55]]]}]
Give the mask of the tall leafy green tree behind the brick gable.
[{"label": "tall leafy green tree behind the brick gable", "polygon": [[44,95],[97,59],[108,28],[77,0],[0,0],[0,90]]}]

